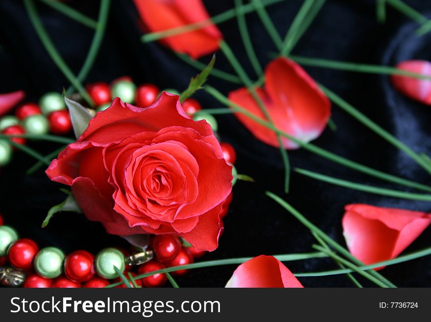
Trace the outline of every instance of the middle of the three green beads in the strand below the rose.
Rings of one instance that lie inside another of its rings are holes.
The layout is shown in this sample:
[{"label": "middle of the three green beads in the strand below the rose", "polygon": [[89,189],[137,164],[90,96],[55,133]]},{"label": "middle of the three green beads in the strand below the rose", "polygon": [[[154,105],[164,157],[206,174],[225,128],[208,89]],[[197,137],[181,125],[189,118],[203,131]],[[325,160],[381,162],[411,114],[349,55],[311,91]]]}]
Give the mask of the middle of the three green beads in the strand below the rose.
[{"label": "middle of the three green beads in the strand below the rose", "polygon": [[56,247],[39,250],[34,258],[34,270],[42,277],[55,278],[63,272],[64,253]]}]

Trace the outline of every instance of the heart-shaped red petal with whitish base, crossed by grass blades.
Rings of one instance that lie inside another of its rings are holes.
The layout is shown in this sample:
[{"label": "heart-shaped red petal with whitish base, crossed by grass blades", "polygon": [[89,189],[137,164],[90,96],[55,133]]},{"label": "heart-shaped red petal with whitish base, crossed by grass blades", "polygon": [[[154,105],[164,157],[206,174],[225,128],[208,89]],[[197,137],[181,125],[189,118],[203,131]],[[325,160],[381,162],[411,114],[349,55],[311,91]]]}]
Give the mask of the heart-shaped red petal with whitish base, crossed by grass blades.
[{"label": "heart-shaped red petal with whitish base, crossed by grass blades", "polygon": [[[317,138],[331,115],[329,99],[298,64],[287,58],[277,58],[268,64],[265,69],[264,90],[257,89],[257,93],[275,126],[302,142]],[[229,99],[266,120],[247,89],[241,88],[229,93]],[[241,113],[235,115],[259,140],[279,147],[273,131]],[[298,145],[287,138],[282,140],[286,149],[298,148]]]}]

